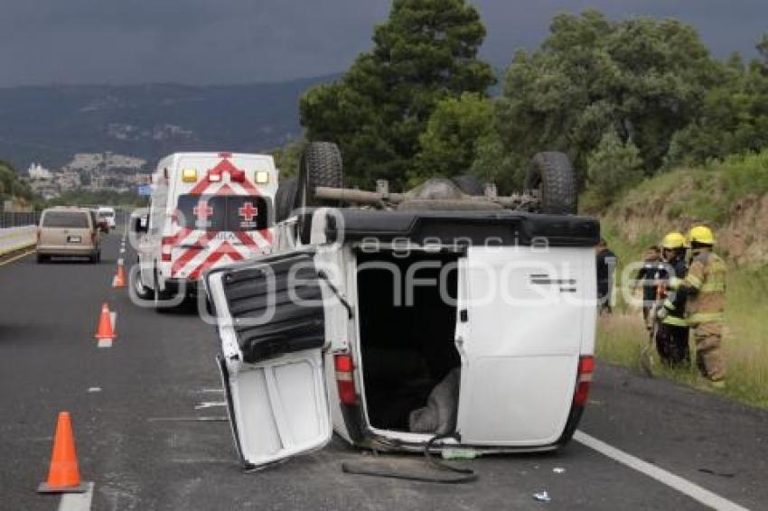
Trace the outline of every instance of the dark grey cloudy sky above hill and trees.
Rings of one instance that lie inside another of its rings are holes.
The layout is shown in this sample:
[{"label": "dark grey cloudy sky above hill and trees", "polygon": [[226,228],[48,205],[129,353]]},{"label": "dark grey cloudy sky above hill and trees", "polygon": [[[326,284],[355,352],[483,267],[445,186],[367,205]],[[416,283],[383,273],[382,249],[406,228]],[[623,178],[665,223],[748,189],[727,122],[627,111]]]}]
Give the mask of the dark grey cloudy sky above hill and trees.
[{"label": "dark grey cloudy sky above hill and trees", "polygon": [[[552,15],[676,17],[719,57],[754,55],[765,0],[473,0],[482,56],[504,67],[536,47]],[[389,0],[3,0],[0,87],[51,83],[241,83],[344,70],[370,48]]]}]

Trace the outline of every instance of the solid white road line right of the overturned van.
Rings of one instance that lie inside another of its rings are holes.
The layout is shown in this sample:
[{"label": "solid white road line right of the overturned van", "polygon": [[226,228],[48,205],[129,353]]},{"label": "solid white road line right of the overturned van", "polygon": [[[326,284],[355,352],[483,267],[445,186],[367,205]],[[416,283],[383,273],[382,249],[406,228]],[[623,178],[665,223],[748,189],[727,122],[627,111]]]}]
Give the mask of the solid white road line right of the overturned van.
[{"label": "solid white road line right of the overturned van", "polygon": [[660,483],[678,490],[680,493],[697,500],[705,506],[712,507],[718,511],[747,511],[746,507],[739,506],[735,502],[720,497],[706,488],[701,488],[697,484],[690,482],[688,479],[681,478],[665,469],[660,469],[647,461],[635,458],[632,454],[620,451],[581,430],[577,430],[576,433],[574,433],[574,440],[583,443],[585,446],[594,449],[612,460],[626,465],[630,469],[642,472],[649,478],[654,478]]}]

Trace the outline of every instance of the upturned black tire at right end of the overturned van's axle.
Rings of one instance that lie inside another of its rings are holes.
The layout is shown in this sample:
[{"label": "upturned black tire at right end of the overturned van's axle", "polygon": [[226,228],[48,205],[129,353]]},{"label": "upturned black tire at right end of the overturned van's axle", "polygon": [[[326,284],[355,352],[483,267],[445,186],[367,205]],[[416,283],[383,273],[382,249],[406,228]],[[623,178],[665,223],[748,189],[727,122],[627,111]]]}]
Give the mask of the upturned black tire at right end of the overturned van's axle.
[{"label": "upturned black tire at right end of the overturned van's axle", "polygon": [[538,153],[530,161],[526,190],[539,190],[541,213],[576,214],[576,172],[564,153]]}]

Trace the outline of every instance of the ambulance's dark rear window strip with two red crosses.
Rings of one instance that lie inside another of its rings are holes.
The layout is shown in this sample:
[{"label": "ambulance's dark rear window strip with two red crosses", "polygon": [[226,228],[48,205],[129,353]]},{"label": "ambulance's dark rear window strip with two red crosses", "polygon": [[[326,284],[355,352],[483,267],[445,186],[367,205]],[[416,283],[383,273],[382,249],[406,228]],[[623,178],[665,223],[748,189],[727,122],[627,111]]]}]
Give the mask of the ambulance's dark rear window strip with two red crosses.
[{"label": "ambulance's dark rear window strip with two red crosses", "polygon": [[257,195],[180,195],[177,221],[183,228],[243,231],[267,228],[268,202]]}]

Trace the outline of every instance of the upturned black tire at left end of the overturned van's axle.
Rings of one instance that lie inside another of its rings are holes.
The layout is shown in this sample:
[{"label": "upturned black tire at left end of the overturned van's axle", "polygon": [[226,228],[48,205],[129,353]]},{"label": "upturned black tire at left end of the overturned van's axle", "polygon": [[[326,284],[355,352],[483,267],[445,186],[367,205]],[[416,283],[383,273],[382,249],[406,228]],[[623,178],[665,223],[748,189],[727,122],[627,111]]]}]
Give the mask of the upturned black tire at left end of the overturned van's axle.
[{"label": "upturned black tire at left end of the overturned van's axle", "polygon": [[318,186],[342,188],[342,152],[332,142],[313,142],[306,146],[299,164],[298,203],[296,206],[331,206],[328,201],[317,199],[314,189]]}]

